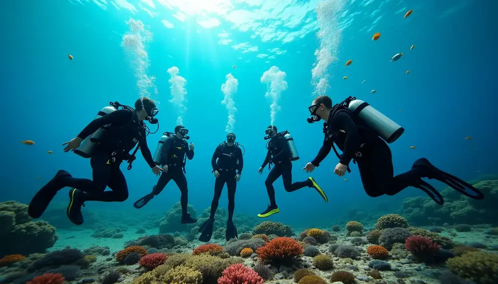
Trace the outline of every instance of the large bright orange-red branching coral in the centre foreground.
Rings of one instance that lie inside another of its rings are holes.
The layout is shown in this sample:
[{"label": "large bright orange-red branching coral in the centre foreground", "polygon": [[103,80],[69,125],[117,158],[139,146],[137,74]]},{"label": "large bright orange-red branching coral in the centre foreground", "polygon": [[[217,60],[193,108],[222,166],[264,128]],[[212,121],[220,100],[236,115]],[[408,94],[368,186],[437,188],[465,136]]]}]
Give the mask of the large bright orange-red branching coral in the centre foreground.
[{"label": "large bright orange-red branching coral in the centre foreground", "polygon": [[303,247],[293,238],[278,237],[256,250],[257,257],[264,262],[290,261],[303,253]]}]

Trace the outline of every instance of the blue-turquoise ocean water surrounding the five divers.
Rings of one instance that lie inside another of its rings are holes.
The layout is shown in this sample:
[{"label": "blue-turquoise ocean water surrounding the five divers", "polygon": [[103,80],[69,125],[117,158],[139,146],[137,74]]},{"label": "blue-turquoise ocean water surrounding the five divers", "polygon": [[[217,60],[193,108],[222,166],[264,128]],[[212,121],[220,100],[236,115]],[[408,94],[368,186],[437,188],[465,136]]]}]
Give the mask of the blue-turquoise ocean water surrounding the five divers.
[{"label": "blue-turquoise ocean water surrounding the five divers", "polygon": [[[221,87],[226,76],[232,74],[238,80],[233,95],[237,108],[234,132],[246,149],[236,213],[255,215],[264,210],[269,203],[264,188],[268,171],[265,169],[262,176],[256,171],[266,154],[262,138],[270,124],[272,102],[265,97],[268,90],[261,77],[270,67],[285,72],[288,85],[277,100],[274,125],[289,130],[295,139],[301,159],[293,163],[294,181],[308,177],[301,168],[315,157],[323,141],[321,123],[306,122],[307,106],[316,96],[311,70],[319,62],[315,51],[321,48],[316,35],[320,31],[315,10],[318,2],[3,3],[0,86],[6,129],[0,142],[0,201],[28,203],[59,169],[75,177],[91,177],[89,160],[64,153],[61,144],[75,137],[110,101],[131,105],[139,97],[135,75],[140,71],[129,55],[143,59],[144,54],[136,45],[125,50],[123,38],[130,32],[129,23],[140,21],[152,34],[152,40],[143,43],[149,63],[143,74],[156,78],[157,94],[154,87],[147,90],[160,109],[159,131],[147,137],[151,151],[161,133],[172,131],[177,124],[179,112],[169,101],[173,96],[167,72],[176,66],[178,75],[186,80],[183,124],[196,146],[195,157],[187,162],[186,169],[189,203],[198,212],[208,207],[214,187],[211,156],[227,133],[228,111],[222,104]],[[495,174],[497,4],[472,0],[344,0],[341,6],[339,2],[329,3],[337,16],[322,10],[325,41],[332,42],[335,58],[325,69],[330,85],[326,94],[334,102],[357,96],[406,129],[390,145],[395,174],[408,170],[420,157],[464,180]],[[414,12],[403,18],[410,9]],[[329,21],[334,17],[336,23]],[[381,33],[377,41],[372,40],[375,32]],[[327,38],[330,35],[333,38]],[[415,47],[410,51],[411,45]],[[390,62],[401,52],[399,61]],[[68,59],[69,54],[73,60]],[[353,63],[345,67],[348,60]],[[371,94],[372,90],[377,92]],[[28,139],[36,144],[20,143]],[[371,198],[362,188],[355,165],[344,177],[347,182],[333,174],[337,162],[332,153],[312,174],[327,192],[329,203],[312,189],[285,192],[279,179],[274,185],[281,213],[269,219],[328,226],[348,210],[387,212],[398,209],[403,198],[421,194],[411,188],[396,196]],[[157,178],[140,154],[131,171],[124,166],[122,169],[128,182],[128,200],[87,202],[87,209],[136,210],[132,202],[148,193]],[[165,211],[179,196],[176,185],[170,183],[140,210]],[[66,193],[60,193],[56,200],[67,201]],[[220,206],[226,205],[224,191]]]}]

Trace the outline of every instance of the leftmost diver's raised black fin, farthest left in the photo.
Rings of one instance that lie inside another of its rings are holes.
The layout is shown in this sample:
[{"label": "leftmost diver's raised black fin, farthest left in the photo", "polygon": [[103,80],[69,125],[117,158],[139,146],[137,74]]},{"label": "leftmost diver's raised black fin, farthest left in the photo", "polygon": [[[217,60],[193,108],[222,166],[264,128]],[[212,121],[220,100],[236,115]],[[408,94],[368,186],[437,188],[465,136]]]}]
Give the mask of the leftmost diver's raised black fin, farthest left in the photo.
[{"label": "leftmost diver's raised black fin, farthest left in the photo", "polygon": [[40,218],[47,209],[48,204],[50,204],[50,201],[57,194],[57,191],[65,187],[60,182],[63,177],[71,177],[71,175],[66,171],[60,170],[50,182],[36,192],[28,206],[28,215],[31,218]]}]

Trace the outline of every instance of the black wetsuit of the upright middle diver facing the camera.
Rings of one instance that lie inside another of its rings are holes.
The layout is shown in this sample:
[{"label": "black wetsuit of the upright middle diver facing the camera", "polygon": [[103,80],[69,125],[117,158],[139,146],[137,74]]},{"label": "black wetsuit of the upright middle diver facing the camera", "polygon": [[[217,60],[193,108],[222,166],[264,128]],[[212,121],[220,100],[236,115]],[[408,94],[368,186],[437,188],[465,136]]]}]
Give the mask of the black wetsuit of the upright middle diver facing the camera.
[{"label": "black wetsuit of the upright middle diver facing the camera", "polygon": [[[216,161],[217,159],[218,162]],[[235,144],[233,146],[228,146],[227,143],[218,145],[211,159],[211,166],[213,167],[213,172],[218,171],[220,176],[215,180],[215,194],[211,202],[210,217],[215,217],[218,201],[226,183],[228,189],[228,219],[232,220],[235,209],[235,191],[237,189],[235,176],[237,174],[241,175],[244,168],[241,149]]]}]

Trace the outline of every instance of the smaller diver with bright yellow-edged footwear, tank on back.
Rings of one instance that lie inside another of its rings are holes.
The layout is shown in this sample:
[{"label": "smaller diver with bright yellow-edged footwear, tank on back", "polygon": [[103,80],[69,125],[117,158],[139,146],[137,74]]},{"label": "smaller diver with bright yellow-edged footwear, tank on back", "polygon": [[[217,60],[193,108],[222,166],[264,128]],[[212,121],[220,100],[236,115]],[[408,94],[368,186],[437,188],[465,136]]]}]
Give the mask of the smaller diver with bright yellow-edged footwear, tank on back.
[{"label": "smaller diver with bright yellow-edged footwear, tank on back", "polygon": [[[261,168],[257,170],[259,174],[263,173],[263,168],[269,163],[274,164],[273,169],[270,170],[268,177],[264,181],[266,186],[266,191],[268,192],[268,197],[270,198],[270,205],[263,212],[257,214],[260,218],[268,217],[272,214],[280,212],[278,206],[275,202],[275,189],[273,189],[273,183],[282,176],[283,186],[285,191],[292,192],[297,189],[302,189],[304,187],[314,188],[322,196],[325,202],[329,202],[325,192],[318,186],[313,178],[308,178],[304,182],[292,183],[292,161],[299,159],[297,155],[297,150],[294,145],[294,139],[290,136],[288,131],[283,131],[278,133],[277,128],[273,125],[268,126],[265,130],[266,136],[265,140],[268,140],[266,148],[268,152],[266,153],[266,158],[264,159]],[[270,165],[268,165],[270,169]]]}]

